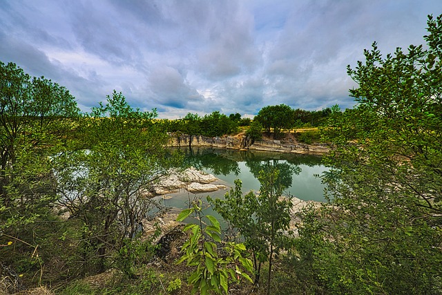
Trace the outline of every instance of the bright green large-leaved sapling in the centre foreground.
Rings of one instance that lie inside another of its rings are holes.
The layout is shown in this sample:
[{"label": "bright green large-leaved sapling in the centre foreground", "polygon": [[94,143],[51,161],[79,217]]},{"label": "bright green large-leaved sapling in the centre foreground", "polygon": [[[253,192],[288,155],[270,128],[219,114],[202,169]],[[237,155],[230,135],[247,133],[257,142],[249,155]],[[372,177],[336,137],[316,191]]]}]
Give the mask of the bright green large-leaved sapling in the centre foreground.
[{"label": "bright green large-leaved sapling in the centre foreground", "polygon": [[[184,231],[190,231],[191,236],[187,240],[182,251],[182,258],[178,260],[178,264],[186,261],[186,265],[197,267],[189,276],[188,282],[193,285],[191,294],[200,291],[200,294],[208,294],[213,291],[217,294],[228,294],[229,280],[239,281],[240,277],[244,277],[252,283],[252,280],[246,272],[252,272],[253,265],[251,260],[244,258],[242,254],[246,250],[243,244],[234,242],[227,243],[224,248],[224,255],[218,254],[218,245],[221,243],[220,222],[210,215],[202,216],[201,200],[193,202],[193,207],[181,211],[177,217],[177,221],[183,221],[195,213],[198,225],[189,224],[184,227]],[[209,225],[204,224],[202,218],[209,221]],[[205,225],[205,227],[203,226]]]}]

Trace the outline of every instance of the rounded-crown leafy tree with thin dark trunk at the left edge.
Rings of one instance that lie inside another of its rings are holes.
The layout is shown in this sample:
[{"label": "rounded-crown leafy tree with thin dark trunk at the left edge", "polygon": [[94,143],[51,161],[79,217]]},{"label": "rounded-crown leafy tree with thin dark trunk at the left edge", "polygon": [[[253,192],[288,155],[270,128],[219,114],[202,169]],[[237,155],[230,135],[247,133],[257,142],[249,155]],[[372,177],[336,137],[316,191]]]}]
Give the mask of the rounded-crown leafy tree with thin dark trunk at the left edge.
[{"label": "rounded-crown leafy tree with thin dark trunk at the left edge", "polygon": [[55,140],[50,134],[78,111],[66,88],[44,77],[31,79],[16,64],[0,61],[0,200],[6,207],[12,202],[7,191],[12,175],[7,174],[14,170],[20,146],[42,151]]}]

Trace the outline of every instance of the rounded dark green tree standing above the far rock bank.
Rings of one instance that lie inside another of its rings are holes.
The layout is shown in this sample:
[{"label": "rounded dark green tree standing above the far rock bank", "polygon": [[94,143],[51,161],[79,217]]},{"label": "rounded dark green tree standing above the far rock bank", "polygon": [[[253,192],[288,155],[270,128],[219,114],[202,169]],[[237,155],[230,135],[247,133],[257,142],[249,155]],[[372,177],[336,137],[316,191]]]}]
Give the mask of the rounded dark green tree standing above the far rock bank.
[{"label": "rounded dark green tree standing above the far rock bank", "polygon": [[286,104],[265,106],[260,109],[254,120],[260,122],[268,134],[273,129],[274,138],[278,139],[282,129],[291,129],[293,126],[294,111]]}]

